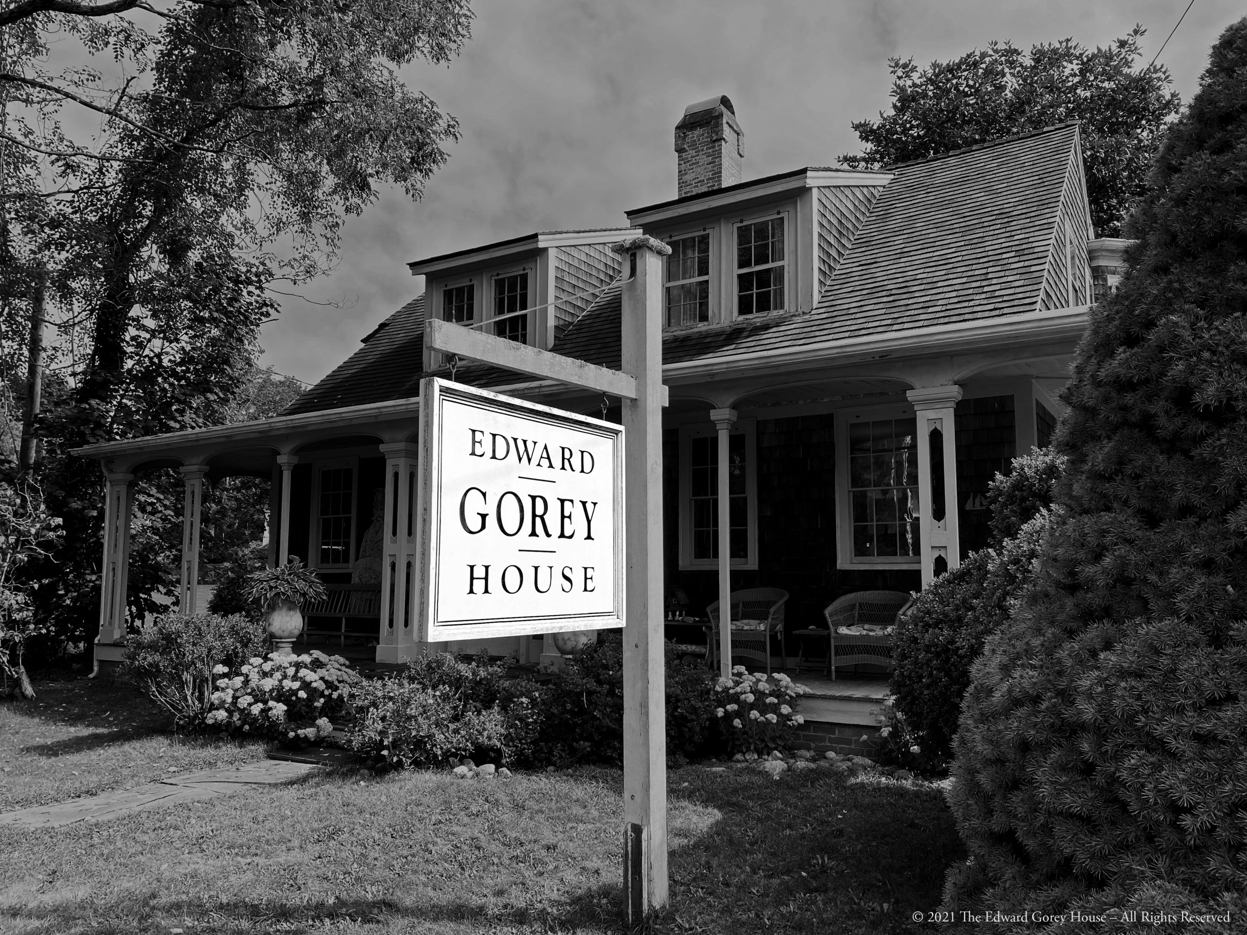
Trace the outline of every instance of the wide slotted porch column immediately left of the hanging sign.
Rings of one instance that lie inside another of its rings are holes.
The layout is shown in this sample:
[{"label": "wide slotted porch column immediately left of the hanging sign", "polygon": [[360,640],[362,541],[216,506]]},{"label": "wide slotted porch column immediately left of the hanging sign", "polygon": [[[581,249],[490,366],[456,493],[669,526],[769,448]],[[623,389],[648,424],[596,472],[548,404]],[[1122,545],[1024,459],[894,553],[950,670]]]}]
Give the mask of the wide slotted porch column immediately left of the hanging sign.
[{"label": "wide slotted porch column immediately left of the hanging sign", "polygon": [[380,446],[385,455],[385,549],[382,559],[382,618],[377,640],[378,662],[403,662],[415,654],[418,563],[416,454],[420,446],[394,443]]}]

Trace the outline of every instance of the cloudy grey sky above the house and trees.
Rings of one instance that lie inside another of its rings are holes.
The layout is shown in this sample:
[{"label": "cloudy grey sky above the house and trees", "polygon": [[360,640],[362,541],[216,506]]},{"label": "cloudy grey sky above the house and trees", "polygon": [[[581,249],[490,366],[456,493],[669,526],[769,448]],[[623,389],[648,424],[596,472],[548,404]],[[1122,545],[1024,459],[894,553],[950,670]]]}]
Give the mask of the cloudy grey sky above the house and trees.
[{"label": "cloudy grey sky above the house and trees", "polygon": [[[535,231],[620,227],[676,196],[675,125],[727,95],[744,131],[744,180],[834,165],[850,123],[888,110],[888,59],[919,65],[991,40],[1107,45],[1134,25],[1151,60],[1188,0],[476,0],[449,66],[400,76],[460,123],[413,202],[382,188],[347,223],[332,273],[283,297],[262,363],[315,381],[424,290],[407,263]],[[1160,61],[1186,102],[1208,50],[1242,16],[1195,0]]]}]

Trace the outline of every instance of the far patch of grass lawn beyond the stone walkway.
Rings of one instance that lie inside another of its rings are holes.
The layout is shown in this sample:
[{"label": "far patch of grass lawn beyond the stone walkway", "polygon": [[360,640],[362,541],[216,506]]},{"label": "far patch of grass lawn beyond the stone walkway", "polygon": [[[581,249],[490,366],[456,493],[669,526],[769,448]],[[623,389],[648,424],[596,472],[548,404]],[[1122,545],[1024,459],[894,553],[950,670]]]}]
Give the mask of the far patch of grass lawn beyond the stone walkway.
[{"label": "far patch of grass lawn beyond the stone walkway", "polygon": [[258,743],[172,734],[172,717],[128,686],[80,678],[36,682],[35,692],[0,702],[0,812],[264,755]]}]

